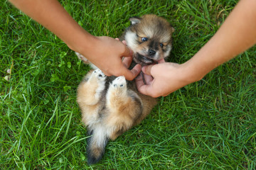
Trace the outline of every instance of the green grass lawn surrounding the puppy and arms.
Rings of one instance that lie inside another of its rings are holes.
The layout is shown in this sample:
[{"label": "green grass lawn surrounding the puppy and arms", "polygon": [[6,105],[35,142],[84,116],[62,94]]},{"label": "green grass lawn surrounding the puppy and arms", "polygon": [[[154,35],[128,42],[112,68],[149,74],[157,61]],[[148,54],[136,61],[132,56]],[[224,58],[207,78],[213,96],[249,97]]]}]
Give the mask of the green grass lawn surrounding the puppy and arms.
[{"label": "green grass lawn surrounding the puppy and arms", "polygon": [[[121,35],[129,17],[155,13],[176,29],[169,61],[189,60],[236,1],[61,1],[93,35]],[[59,38],[0,3],[0,169],[255,169],[256,47],[173,94],[140,125],[86,162],[75,102],[89,67]],[[11,68],[11,80],[6,81]]]}]

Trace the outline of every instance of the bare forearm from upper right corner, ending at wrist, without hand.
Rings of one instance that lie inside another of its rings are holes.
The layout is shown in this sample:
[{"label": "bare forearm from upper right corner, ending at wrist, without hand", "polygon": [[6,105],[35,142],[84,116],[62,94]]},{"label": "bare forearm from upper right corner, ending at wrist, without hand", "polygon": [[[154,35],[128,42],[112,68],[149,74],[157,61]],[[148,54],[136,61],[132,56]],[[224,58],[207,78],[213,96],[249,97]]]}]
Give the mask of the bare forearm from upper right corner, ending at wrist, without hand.
[{"label": "bare forearm from upper right corner, ending at wrist, without hand", "polygon": [[191,75],[193,81],[255,45],[255,9],[255,0],[241,0],[213,38],[184,64],[189,72],[196,74]]}]

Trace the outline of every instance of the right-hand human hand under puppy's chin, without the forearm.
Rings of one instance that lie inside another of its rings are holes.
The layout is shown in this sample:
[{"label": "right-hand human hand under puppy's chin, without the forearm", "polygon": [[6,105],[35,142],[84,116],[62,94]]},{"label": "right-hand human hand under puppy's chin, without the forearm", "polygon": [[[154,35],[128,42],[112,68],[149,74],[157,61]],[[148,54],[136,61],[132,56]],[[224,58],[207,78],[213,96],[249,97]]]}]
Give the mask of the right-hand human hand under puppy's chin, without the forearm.
[{"label": "right-hand human hand under puppy's chin, without the forearm", "polygon": [[164,62],[164,60],[159,60],[159,64],[143,67],[142,72],[146,84],[144,84],[142,75],[139,75],[136,78],[137,89],[142,94],[154,98],[167,96],[193,82],[186,78],[189,72],[184,64]]}]

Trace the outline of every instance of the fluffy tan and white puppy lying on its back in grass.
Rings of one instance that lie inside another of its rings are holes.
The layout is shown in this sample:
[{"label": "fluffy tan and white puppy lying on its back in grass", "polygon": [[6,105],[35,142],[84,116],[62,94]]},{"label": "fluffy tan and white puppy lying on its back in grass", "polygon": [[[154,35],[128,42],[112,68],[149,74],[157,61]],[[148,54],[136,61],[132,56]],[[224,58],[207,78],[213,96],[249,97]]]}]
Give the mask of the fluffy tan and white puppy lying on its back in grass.
[{"label": "fluffy tan and white puppy lying on its back in grass", "polygon": [[[157,63],[169,56],[174,32],[169,22],[155,15],[133,17],[129,21],[131,26],[119,39],[125,40],[134,52],[133,66]],[[85,57],[76,54],[87,62]],[[134,81],[106,77],[100,69],[91,70],[82,79],[77,101],[90,136],[87,140],[88,164],[99,162],[107,142],[140,123],[157,103],[156,98],[140,94]]]}]

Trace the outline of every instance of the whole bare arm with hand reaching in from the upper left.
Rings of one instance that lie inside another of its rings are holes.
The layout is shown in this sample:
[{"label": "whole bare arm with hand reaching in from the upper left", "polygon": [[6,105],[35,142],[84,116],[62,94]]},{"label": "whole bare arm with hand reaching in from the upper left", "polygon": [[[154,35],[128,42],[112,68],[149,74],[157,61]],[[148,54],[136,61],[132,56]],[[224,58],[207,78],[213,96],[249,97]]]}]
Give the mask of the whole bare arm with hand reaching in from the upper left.
[{"label": "whole bare arm with hand reaching in from the upper left", "polygon": [[[127,79],[134,79],[139,74],[139,65],[132,71],[127,69],[126,65],[132,60],[128,47],[114,38],[90,35],[75,22],[57,0],[10,0],[10,2],[57,35],[70,49],[87,57],[105,74],[124,75]],[[128,57],[128,62],[122,64],[122,57]]]}]

